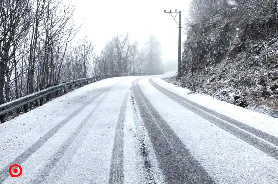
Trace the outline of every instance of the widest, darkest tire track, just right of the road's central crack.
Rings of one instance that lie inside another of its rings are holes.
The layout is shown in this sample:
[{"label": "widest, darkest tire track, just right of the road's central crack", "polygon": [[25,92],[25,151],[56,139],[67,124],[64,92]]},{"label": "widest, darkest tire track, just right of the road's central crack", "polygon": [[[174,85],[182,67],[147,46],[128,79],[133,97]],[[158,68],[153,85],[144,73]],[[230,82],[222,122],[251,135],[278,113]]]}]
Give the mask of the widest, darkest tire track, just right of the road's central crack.
[{"label": "widest, darkest tire track, just right of the road's central crack", "polygon": [[133,93],[168,183],[215,183],[135,82]]}]

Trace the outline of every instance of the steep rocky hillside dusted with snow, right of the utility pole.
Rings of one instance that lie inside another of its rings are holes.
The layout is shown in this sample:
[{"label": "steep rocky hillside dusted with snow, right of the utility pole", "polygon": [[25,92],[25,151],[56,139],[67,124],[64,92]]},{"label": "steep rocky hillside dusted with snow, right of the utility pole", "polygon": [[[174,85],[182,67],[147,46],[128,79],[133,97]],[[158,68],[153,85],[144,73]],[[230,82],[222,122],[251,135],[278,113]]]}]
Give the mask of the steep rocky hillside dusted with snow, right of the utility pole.
[{"label": "steep rocky hillside dusted with snow, right of the utility pole", "polygon": [[276,0],[248,0],[191,24],[176,83],[278,117]]}]

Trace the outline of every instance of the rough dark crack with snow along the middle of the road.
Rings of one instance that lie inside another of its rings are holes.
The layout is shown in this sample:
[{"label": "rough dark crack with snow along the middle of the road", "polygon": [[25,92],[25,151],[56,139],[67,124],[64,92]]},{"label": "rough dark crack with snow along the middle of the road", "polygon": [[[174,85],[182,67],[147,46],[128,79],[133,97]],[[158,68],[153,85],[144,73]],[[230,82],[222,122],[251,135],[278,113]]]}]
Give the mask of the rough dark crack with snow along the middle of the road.
[{"label": "rough dark crack with snow along the middle of the road", "polygon": [[[152,163],[150,160],[150,157],[148,155],[148,148],[146,145],[146,132],[143,126],[142,121],[140,121],[140,118],[138,117],[138,113],[137,113],[137,109],[136,109],[136,104],[134,101],[134,97],[131,93],[131,107],[132,107],[132,120],[133,120],[133,124],[135,127],[133,127],[130,123],[130,131],[132,132],[133,137],[135,138],[139,150],[140,150],[140,155],[142,156],[143,162],[144,162],[144,166],[145,166],[145,172],[147,174],[148,177],[148,181],[146,183],[149,184],[156,184],[156,180],[155,180],[155,175],[154,172],[152,170]],[[139,123],[141,122],[141,123]],[[140,130],[141,129],[141,130]]]}]

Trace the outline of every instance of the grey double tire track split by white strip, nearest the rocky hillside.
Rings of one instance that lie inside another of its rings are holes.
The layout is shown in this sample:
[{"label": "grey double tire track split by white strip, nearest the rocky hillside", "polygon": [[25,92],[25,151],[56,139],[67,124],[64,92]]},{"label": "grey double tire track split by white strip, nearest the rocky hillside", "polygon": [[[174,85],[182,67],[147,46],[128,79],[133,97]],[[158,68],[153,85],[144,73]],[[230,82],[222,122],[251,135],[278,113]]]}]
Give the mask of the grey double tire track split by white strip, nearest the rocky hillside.
[{"label": "grey double tire track split by white strip, nearest the rocky hillside", "polygon": [[148,81],[162,94],[166,95],[168,98],[182,105],[186,109],[278,160],[277,137],[181,97],[180,95],[177,95],[154,83],[152,78]]}]

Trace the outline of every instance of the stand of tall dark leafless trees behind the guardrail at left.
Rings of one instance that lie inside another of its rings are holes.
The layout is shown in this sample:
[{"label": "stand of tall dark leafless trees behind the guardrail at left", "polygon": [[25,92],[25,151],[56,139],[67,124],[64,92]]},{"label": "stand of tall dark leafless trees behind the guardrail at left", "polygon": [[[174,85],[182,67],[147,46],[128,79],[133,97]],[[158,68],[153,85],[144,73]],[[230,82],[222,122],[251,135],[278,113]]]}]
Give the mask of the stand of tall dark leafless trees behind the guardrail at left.
[{"label": "stand of tall dark leafless trees behind the guardrail at left", "polygon": [[78,31],[74,9],[62,0],[0,1],[0,104],[59,82]]}]

